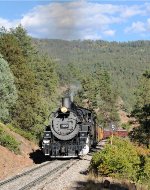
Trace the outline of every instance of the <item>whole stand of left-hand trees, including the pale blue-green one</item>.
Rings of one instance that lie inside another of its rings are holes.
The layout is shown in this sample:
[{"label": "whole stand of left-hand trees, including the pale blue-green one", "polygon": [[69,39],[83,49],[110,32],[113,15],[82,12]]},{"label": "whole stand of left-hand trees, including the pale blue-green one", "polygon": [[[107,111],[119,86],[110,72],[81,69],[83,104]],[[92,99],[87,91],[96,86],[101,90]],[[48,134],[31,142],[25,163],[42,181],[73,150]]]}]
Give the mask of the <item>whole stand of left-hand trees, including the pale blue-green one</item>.
[{"label": "whole stand of left-hand trees, including the pale blue-green one", "polygon": [[[0,121],[39,138],[58,98],[55,63],[40,55],[21,26],[0,30]],[[21,132],[23,134],[23,132]]]}]

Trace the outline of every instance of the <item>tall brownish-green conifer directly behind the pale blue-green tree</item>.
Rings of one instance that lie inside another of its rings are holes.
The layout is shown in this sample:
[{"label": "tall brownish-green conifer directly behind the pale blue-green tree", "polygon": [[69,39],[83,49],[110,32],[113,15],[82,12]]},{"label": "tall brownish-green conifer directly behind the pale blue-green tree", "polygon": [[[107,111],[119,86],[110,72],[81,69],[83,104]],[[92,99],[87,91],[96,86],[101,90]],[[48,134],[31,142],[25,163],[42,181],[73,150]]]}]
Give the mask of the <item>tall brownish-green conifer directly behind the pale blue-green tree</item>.
[{"label": "tall brownish-green conifer directly behind the pale blue-green tree", "polygon": [[14,125],[29,130],[43,124],[44,108],[35,86],[35,75],[18,39],[11,32],[1,33],[0,52],[10,65],[18,90],[18,100],[11,112]]}]

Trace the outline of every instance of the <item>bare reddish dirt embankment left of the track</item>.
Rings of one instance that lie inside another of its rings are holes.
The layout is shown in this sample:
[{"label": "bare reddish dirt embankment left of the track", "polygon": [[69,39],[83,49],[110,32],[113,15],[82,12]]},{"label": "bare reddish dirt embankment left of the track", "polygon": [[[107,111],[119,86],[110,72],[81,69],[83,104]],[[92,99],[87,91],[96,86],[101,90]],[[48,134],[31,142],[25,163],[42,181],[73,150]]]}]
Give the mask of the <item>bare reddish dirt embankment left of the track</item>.
[{"label": "bare reddish dirt embankment left of the track", "polygon": [[10,129],[5,128],[5,131],[20,142],[21,154],[16,155],[7,148],[0,146],[0,180],[13,174],[17,174],[23,168],[35,164],[31,155],[39,149],[39,147],[33,142],[30,142],[19,134],[10,131]]}]

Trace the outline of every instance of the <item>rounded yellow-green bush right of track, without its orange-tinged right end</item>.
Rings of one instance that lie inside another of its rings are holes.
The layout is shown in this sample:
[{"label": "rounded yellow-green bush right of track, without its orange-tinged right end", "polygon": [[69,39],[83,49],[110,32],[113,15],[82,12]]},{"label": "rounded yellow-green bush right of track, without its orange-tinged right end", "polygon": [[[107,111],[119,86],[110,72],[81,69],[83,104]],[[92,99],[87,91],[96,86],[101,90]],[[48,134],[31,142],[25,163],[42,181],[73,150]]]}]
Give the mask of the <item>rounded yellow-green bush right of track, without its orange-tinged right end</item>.
[{"label": "rounded yellow-green bush right of track, without its orange-tinged right end", "polygon": [[113,145],[95,153],[91,161],[91,169],[104,176],[137,180],[140,158],[129,140],[114,138]]}]

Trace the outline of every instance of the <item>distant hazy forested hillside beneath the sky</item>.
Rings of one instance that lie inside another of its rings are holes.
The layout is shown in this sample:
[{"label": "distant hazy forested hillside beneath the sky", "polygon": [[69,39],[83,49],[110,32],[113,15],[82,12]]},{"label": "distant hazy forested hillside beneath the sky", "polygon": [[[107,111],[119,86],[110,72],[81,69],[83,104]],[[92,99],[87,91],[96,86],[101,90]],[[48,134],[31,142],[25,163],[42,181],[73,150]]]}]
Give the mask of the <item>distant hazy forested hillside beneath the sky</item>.
[{"label": "distant hazy forested hillside beneath the sky", "polygon": [[134,91],[138,78],[150,69],[150,41],[127,43],[106,41],[33,40],[43,54],[47,53],[58,64],[61,80],[71,84],[101,66],[111,77],[113,87],[131,111],[135,103]]}]

